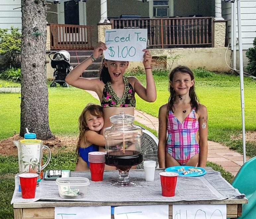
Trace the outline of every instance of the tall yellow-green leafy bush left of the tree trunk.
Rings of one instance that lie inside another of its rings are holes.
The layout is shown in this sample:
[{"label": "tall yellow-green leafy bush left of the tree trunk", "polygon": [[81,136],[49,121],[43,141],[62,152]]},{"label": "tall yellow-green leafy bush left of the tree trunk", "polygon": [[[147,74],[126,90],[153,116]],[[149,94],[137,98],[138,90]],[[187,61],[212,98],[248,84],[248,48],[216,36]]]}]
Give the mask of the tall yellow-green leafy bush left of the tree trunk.
[{"label": "tall yellow-green leafy bush left of the tree trunk", "polygon": [[3,56],[3,64],[15,68],[21,67],[21,33],[18,28],[11,27],[11,33],[7,29],[0,28],[0,55]]}]

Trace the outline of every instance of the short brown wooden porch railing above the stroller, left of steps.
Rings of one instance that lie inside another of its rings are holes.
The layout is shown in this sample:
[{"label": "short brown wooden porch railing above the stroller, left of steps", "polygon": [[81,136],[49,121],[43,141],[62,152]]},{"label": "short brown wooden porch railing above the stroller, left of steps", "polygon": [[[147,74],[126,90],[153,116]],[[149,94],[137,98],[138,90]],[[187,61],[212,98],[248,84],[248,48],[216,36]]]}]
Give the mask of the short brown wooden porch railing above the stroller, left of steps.
[{"label": "short brown wooden porch railing above the stroller, left of steps", "polygon": [[54,50],[93,50],[93,26],[50,24],[50,48]]}]

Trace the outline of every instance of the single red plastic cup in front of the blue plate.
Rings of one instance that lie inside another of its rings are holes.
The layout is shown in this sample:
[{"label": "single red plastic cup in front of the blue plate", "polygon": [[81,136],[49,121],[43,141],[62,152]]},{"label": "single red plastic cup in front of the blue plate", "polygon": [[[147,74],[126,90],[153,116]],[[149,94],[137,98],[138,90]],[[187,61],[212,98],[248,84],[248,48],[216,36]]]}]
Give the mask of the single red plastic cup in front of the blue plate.
[{"label": "single red plastic cup in front of the blue plate", "polygon": [[177,173],[171,172],[162,172],[159,173],[161,187],[162,187],[162,196],[173,197],[175,195],[175,188],[177,183]]}]

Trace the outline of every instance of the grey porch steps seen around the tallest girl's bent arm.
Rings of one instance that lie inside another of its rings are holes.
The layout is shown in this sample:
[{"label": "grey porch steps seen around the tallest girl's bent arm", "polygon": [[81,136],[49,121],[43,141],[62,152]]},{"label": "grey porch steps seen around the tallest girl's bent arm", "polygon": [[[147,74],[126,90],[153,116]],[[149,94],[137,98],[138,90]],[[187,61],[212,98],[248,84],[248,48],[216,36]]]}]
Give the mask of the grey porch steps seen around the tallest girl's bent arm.
[{"label": "grey porch steps seen around the tallest girl's bent arm", "polygon": [[[90,57],[93,53],[93,50],[86,50],[86,51],[68,51],[70,54],[70,66],[77,66],[78,60],[79,63]],[[78,59],[78,60],[77,60]],[[102,65],[103,56],[100,56],[93,62],[82,74],[83,78],[92,78],[92,77],[99,77],[99,70]]]}]

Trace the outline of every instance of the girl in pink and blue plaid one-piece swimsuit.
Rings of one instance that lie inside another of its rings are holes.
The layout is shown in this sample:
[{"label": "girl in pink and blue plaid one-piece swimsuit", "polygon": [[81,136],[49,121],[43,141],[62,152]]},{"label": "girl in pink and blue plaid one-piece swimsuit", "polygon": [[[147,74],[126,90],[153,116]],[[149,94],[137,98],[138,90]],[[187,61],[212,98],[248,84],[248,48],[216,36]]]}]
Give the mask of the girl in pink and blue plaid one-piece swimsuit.
[{"label": "girl in pink and blue plaid one-piece swimsuit", "polygon": [[160,107],[158,116],[159,167],[196,166],[197,163],[205,167],[208,115],[195,93],[193,72],[186,66],[177,66],[169,74],[169,85],[169,102]]}]

